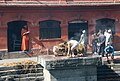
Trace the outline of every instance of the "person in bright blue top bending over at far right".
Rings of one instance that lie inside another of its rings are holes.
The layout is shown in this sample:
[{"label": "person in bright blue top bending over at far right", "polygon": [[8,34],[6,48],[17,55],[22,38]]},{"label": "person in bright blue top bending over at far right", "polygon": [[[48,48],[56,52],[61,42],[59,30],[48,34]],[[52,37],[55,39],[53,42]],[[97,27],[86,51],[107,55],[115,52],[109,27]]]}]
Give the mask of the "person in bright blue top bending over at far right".
[{"label": "person in bright blue top bending over at far right", "polygon": [[111,60],[113,62],[113,60],[114,60],[114,48],[113,48],[113,46],[112,45],[106,46],[104,51],[105,51],[105,54],[107,57],[107,62],[110,63],[109,58],[108,58],[109,55],[111,56]]}]

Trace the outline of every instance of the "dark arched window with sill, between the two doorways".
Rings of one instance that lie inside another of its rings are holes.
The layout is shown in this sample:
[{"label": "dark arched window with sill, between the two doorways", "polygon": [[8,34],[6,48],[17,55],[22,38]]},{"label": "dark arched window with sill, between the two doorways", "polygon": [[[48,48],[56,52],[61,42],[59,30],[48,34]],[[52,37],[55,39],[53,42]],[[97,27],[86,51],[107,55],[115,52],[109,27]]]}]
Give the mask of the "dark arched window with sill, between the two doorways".
[{"label": "dark arched window with sill, between the two doorways", "polygon": [[40,39],[61,38],[60,21],[46,20],[40,22]]}]

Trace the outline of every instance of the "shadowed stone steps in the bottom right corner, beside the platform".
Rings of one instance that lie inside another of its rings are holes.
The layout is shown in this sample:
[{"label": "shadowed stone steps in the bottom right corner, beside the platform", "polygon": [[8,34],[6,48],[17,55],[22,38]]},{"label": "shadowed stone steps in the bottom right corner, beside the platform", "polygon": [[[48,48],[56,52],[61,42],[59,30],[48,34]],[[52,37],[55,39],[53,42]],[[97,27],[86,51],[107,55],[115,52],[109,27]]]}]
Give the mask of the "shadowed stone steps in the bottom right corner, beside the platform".
[{"label": "shadowed stone steps in the bottom right corner, beside the platform", "polygon": [[107,64],[97,68],[98,81],[120,81],[120,64]]}]

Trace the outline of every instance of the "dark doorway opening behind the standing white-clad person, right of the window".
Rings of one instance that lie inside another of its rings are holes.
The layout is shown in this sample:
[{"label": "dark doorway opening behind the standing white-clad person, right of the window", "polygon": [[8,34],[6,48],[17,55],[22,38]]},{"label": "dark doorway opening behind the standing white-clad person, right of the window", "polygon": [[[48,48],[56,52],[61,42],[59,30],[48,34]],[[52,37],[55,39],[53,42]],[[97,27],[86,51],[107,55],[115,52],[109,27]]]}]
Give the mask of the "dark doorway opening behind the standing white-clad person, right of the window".
[{"label": "dark doorway opening behind the standing white-clad person, right of the window", "polygon": [[68,23],[68,40],[75,39],[79,41],[82,30],[86,30],[88,36],[88,21],[73,20]]}]

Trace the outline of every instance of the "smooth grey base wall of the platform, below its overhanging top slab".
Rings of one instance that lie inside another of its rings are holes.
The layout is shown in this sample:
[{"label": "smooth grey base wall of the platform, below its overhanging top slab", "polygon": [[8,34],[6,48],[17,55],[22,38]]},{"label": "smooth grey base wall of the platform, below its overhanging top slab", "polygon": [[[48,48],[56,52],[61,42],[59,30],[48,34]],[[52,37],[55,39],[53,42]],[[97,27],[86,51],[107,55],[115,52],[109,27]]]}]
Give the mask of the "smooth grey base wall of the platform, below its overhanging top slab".
[{"label": "smooth grey base wall of the platform, below its overhanging top slab", "polygon": [[94,66],[81,66],[79,68],[46,70],[45,81],[97,81],[97,69]]}]

